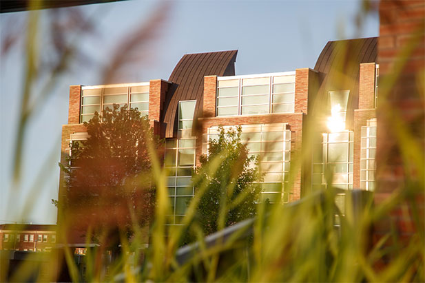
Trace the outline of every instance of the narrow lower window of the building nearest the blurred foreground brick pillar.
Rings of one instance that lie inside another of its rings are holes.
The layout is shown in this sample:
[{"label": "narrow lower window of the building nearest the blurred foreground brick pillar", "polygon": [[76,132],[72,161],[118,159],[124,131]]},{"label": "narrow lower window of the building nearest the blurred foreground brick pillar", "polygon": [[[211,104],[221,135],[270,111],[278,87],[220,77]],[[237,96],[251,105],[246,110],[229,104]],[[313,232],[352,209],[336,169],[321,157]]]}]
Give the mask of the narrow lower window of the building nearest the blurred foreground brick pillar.
[{"label": "narrow lower window of the building nearest the blurred foreground brick pillar", "polygon": [[360,151],[360,188],[367,191],[375,189],[375,154],[376,154],[376,118],[367,121],[362,127]]}]

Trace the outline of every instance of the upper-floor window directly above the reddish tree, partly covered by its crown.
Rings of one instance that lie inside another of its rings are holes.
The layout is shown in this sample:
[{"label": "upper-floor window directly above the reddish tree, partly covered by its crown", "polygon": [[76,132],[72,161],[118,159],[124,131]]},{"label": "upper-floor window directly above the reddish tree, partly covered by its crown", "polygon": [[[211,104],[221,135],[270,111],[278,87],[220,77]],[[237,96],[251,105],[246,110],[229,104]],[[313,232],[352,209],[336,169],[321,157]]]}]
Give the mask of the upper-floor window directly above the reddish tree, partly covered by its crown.
[{"label": "upper-floor window directly above the reddish tree, partly covered by its crown", "polygon": [[118,104],[120,107],[138,109],[142,115],[149,110],[149,83],[138,83],[124,86],[87,86],[81,90],[80,123],[88,122],[94,112],[101,114],[101,109]]}]

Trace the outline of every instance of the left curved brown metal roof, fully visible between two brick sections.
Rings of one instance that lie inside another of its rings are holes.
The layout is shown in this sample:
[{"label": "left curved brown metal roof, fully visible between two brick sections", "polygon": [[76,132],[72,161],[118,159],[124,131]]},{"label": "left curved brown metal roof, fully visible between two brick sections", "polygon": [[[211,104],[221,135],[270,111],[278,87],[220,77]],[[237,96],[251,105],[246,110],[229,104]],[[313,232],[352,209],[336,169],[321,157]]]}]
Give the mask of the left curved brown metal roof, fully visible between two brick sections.
[{"label": "left curved brown metal roof, fully visible between two brick sections", "polygon": [[196,100],[195,117],[202,115],[204,76],[234,76],[238,50],[185,54],[169,76],[172,86],[164,105],[165,137],[177,132],[178,101]]}]

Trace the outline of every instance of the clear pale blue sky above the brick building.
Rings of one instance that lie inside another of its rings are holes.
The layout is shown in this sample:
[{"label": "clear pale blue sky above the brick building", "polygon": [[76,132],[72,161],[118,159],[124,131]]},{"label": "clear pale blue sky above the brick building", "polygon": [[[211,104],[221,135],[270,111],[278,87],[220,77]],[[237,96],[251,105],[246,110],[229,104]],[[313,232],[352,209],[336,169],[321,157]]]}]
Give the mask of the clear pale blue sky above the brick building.
[{"label": "clear pale blue sky above the brick building", "polygon": [[[149,25],[159,6],[164,19]],[[56,223],[56,209],[50,200],[58,195],[57,164],[61,128],[68,120],[69,86],[103,83],[102,70],[112,63],[115,54],[123,53],[121,43],[135,30],[145,27],[150,35],[133,48],[137,56],[114,83],[167,79],[184,54],[220,50],[238,50],[238,75],[313,68],[327,41],[379,34],[377,13],[363,17],[360,27],[355,25],[361,10],[361,1],[357,0],[121,1],[77,9],[92,20],[94,29],[65,34],[67,42],[76,43],[83,56],[54,81],[48,96],[37,96],[47,75],[32,88],[31,101],[42,100],[25,130],[18,182],[12,182],[12,164],[25,74],[25,34],[17,32],[21,41],[0,56],[0,223]],[[52,12],[58,11],[64,10],[40,13],[39,48],[48,58],[52,55],[50,41],[43,36],[45,23]],[[30,13],[0,14],[1,46],[6,34],[25,23]]]}]

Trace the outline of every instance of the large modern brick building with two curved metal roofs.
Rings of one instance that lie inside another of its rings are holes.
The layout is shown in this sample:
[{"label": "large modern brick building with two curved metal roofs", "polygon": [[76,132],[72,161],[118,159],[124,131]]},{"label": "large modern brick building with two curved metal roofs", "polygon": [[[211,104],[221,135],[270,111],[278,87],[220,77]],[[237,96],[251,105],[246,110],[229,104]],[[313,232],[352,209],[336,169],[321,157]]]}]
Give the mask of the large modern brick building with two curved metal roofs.
[{"label": "large modern brick building with two curved metal roofs", "polygon": [[329,41],[314,69],[270,74],[236,75],[237,53],[186,54],[167,81],[72,85],[61,162],[72,141],[87,138],[82,123],[117,103],[138,107],[166,139],[172,224],[194,196],[191,171],[219,126],[241,126],[249,154],[260,157],[262,200],[291,202],[326,182],[373,190],[377,38]]}]

